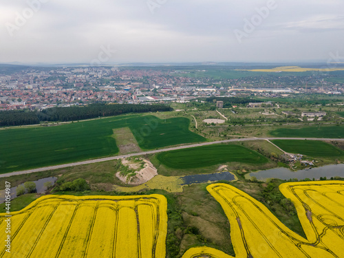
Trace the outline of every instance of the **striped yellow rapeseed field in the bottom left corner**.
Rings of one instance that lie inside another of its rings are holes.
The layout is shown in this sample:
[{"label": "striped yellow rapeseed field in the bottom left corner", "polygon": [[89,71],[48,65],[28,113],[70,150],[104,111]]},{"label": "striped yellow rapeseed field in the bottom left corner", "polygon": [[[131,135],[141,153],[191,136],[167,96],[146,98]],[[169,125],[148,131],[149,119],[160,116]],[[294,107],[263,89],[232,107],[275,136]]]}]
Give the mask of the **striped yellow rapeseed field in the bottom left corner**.
[{"label": "striped yellow rapeseed field in the bottom left corner", "polygon": [[12,213],[11,252],[3,245],[0,257],[164,258],[166,210],[162,195],[46,195]]}]

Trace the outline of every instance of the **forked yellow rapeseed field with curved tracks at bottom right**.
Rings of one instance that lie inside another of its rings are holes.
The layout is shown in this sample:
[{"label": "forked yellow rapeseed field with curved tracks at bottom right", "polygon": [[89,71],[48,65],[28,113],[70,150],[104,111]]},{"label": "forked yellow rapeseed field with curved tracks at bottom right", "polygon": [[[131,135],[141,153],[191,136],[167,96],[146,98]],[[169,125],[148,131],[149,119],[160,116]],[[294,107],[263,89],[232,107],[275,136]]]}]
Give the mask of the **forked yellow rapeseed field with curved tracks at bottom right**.
[{"label": "forked yellow rapeseed field with curved tracks at bottom right", "polygon": [[[292,232],[266,206],[243,191],[228,184],[207,187],[230,221],[235,257],[342,257],[343,182],[293,182],[279,188],[296,206],[306,238]],[[233,257],[213,248],[197,247],[188,250],[183,258],[201,255]]]}]

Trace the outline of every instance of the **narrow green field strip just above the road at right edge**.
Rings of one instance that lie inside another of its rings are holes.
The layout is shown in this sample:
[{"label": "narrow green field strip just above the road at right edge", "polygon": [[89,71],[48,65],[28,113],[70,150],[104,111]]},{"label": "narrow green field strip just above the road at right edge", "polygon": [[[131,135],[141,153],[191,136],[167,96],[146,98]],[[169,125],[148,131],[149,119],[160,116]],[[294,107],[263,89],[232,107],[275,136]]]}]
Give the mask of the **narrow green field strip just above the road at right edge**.
[{"label": "narrow green field strip just above the road at right edge", "polygon": [[314,126],[300,129],[280,128],[270,131],[270,135],[274,137],[344,138],[344,126]]}]

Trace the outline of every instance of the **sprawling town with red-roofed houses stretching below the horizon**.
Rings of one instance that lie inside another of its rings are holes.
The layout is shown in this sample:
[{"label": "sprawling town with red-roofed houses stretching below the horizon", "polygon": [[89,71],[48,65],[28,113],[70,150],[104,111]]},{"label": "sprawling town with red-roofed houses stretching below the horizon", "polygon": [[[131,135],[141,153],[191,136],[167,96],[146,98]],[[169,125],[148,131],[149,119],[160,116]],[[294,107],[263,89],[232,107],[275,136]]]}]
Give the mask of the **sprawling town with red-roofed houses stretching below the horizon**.
[{"label": "sprawling town with red-roofed houses stretching below the horizon", "polygon": [[[196,68],[23,67],[0,72],[0,110],[41,110],[90,103],[187,103],[197,98],[221,96],[343,95],[344,92],[343,81],[329,74],[257,76],[254,73],[255,76],[241,78],[216,78],[212,76],[218,72],[216,67]],[[239,71],[228,68],[226,72],[240,75]]]}]

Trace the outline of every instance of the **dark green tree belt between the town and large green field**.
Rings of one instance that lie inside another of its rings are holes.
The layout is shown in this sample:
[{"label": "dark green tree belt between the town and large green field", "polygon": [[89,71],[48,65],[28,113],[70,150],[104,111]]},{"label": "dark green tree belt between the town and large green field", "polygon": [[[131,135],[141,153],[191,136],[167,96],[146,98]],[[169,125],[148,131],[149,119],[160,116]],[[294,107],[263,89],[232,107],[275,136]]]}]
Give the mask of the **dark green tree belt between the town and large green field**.
[{"label": "dark green tree belt between the town and large green field", "polygon": [[44,121],[68,122],[103,116],[118,116],[128,113],[172,110],[171,107],[162,104],[92,104],[83,107],[52,107],[50,109],[43,109],[42,111],[0,111],[0,126],[36,125]]}]

